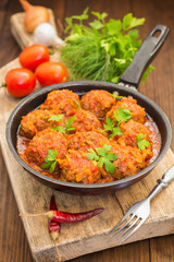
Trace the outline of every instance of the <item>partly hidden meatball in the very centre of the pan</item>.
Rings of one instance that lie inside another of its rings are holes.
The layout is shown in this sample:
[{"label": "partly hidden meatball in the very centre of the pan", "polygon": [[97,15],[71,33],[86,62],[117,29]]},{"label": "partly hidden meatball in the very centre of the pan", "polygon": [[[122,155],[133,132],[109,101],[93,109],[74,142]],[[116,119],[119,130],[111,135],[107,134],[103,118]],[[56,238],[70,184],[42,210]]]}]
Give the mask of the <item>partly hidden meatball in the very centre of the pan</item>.
[{"label": "partly hidden meatball in the very centre of the pan", "polygon": [[110,144],[110,141],[103,134],[95,131],[76,132],[67,138],[67,147],[76,151],[88,152],[88,148],[95,150],[104,144]]}]

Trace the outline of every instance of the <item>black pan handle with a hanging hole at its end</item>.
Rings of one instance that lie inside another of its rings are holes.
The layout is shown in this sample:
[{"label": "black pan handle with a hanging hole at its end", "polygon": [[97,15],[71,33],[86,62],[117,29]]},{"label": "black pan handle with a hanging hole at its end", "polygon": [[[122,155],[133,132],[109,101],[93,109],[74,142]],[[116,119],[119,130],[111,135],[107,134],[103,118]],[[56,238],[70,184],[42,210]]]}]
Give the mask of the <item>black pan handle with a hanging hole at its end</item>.
[{"label": "black pan handle with a hanging hole at its end", "polygon": [[[120,82],[138,87],[142,73],[162,47],[170,29],[164,25],[157,25],[142,41],[132,63],[122,74]],[[159,33],[158,36],[154,34]]]}]

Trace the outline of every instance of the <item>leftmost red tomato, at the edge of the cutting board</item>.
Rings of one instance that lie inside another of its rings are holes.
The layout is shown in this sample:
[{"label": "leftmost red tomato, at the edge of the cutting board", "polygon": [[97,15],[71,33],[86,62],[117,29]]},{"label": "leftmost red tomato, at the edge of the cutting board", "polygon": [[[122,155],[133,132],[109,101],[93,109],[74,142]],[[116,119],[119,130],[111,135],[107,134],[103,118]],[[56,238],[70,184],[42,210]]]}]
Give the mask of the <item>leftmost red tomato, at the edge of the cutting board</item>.
[{"label": "leftmost red tomato, at the edge of the cutting board", "polygon": [[23,97],[34,91],[36,75],[28,69],[12,69],[5,75],[5,84],[10,95]]}]

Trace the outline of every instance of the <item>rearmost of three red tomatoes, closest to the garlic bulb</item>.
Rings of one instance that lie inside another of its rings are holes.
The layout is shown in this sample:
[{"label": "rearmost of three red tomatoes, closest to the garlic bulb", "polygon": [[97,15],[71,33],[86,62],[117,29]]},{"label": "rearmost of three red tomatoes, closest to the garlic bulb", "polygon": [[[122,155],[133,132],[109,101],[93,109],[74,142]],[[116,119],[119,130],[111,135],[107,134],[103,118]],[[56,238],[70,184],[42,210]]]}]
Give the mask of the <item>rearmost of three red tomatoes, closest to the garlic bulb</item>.
[{"label": "rearmost of three red tomatoes, closest to the garlic bulb", "polygon": [[34,44],[26,47],[18,57],[20,63],[23,68],[27,68],[32,71],[42,62],[49,61],[49,49],[45,45]]}]

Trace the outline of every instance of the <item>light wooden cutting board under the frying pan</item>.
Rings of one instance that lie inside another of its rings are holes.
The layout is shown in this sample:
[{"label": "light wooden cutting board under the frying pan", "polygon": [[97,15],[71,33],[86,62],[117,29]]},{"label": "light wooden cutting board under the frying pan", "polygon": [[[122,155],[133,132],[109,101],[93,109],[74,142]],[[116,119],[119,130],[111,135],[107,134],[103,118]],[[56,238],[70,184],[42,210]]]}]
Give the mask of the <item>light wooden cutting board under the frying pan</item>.
[{"label": "light wooden cutting board under the frying pan", "polygon": [[[23,14],[21,15],[23,16]],[[13,19],[17,17],[16,21],[18,19],[21,21],[21,15],[15,14]],[[16,27],[13,26],[13,33],[15,32],[14,28]],[[26,36],[24,28],[21,32],[24,32]],[[32,36],[29,35],[29,37]],[[24,37],[21,37],[21,39],[24,39]],[[21,46],[24,48],[23,44]],[[59,53],[54,53],[51,59],[58,60]],[[18,66],[18,60],[15,59],[0,69],[0,83],[4,81],[8,70]],[[38,84],[36,88],[39,88]],[[105,233],[122,218],[133,203],[146,198],[156,186],[157,179],[161,178],[174,165],[172,151],[169,150],[161,163],[146,178],[116,193],[79,196],[58,192],[38,182],[13,158],[5,141],[5,123],[20,99],[9,96],[5,88],[0,88],[0,142],[18,213],[47,211],[51,194],[55,195],[59,210],[64,212],[85,212],[104,207],[103,213],[89,221],[74,225],[62,225],[58,241],[62,261],[121,245],[114,237],[110,237]],[[21,218],[18,217],[18,219]],[[34,259],[37,262],[58,261],[53,242],[48,233],[47,218],[42,216],[25,217],[22,221]],[[174,234],[174,182],[152,201],[149,218],[126,242],[169,234]]]}]

